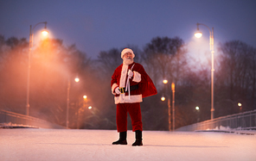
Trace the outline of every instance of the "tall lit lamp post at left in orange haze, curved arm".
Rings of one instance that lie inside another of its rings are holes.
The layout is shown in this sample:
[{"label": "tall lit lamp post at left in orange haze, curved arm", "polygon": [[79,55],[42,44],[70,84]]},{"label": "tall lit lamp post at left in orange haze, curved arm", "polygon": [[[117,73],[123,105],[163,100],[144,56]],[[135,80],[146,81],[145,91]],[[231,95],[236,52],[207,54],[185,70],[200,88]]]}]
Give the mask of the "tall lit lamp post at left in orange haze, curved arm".
[{"label": "tall lit lamp post at left in orange haze, curved arm", "polygon": [[29,32],[29,65],[28,65],[28,78],[27,78],[27,103],[26,103],[26,115],[29,115],[29,85],[30,85],[30,63],[31,63],[31,54],[32,54],[32,47],[33,47],[33,37],[34,37],[34,29],[37,25],[44,23],[44,30],[42,31],[43,35],[47,35],[48,31],[47,22],[39,22],[35,24],[34,28],[30,25],[30,32]]}]

